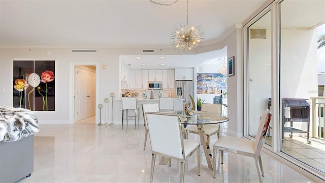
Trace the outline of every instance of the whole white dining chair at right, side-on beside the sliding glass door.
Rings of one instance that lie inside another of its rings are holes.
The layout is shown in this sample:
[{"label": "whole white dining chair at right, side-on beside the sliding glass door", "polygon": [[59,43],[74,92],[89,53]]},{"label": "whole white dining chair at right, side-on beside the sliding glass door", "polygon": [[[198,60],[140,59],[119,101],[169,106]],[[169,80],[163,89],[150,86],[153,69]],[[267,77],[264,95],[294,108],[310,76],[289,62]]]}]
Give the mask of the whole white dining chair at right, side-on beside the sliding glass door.
[{"label": "whole white dining chair at right, side-on beside the sliding glass door", "polygon": [[272,114],[270,110],[267,109],[263,112],[261,120],[259,121],[255,141],[232,136],[221,136],[220,139],[215,142],[215,144],[213,145],[213,178],[215,178],[216,173],[217,150],[220,150],[220,164],[223,164],[223,151],[253,157],[257,169],[259,182],[262,182],[262,176],[264,176],[264,171],[262,166],[261,152],[270,125],[271,116]]}]

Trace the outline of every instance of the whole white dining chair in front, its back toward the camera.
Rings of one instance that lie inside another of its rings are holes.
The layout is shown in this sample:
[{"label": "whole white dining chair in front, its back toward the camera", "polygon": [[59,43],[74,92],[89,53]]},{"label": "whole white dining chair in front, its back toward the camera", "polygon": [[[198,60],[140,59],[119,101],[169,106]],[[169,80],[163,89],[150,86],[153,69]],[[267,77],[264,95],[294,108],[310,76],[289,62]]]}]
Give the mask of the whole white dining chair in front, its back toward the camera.
[{"label": "whole white dining chair in front, its back toward the camera", "polygon": [[179,115],[146,112],[146,117],[152,150],[150,182],[153,180],[156,155],[180,161],[180,181],[184,182],[186,160],[196,151],[200,176],[200,143],[182,138]]}]

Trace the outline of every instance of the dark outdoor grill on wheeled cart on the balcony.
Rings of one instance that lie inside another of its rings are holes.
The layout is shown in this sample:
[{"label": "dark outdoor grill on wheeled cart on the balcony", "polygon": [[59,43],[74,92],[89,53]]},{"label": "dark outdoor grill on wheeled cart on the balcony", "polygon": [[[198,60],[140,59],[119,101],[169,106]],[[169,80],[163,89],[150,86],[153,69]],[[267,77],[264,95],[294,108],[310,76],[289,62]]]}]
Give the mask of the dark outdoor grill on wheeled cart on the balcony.
[{"label": "dark outdoor grill on wheeled cart on the balcony", "polygon": [[[295,99],[295,98],[283,98],[282,99],[282,138],[284,133],[289,132],[289,137],[293,137],[293,133],[307,133],[307,143],[309,140],[309,115],[310,105],[307,102],[308,99]],[[293,128],[294,122],[306,122],[307,131]],[[290,127],[284,127],[286,122],[290,122]],[[283,141],[283,140],[282,140]]]}]

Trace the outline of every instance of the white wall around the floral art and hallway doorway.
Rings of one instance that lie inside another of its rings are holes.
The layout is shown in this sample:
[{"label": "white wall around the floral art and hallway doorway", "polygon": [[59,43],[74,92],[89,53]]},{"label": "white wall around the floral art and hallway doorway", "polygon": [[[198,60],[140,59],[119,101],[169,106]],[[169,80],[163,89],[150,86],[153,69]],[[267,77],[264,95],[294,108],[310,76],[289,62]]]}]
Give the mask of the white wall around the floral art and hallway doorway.
[{"label": "white wall around the floral art and hallway doorway", "polygon": [[[202,48],[202,51],[221,49],[220,44],[211,44]],[[158,49],[157,49],[158,50]],[[160,50],[160,49],[159,49]],[[51,51],[48,55],[46,52]],[[194,52],[193,52],[194,53]],[[142,49],[109,49],[99,48],[95,53],[72,53],[70,48],[1,48],[0,49],[0,105],[13,105],[13,60],[55,60],[55,111],[35,111],[40,124],[70,124],[73,102],[73,83],[70,81],[71,66],[91,63],[98,65],[96,78],[98,79],[98,101],[103,105],[104,99],[110,93],[116,96],[120,93],[120,54],[143,54]],[[150,54],[150,53],[149,53]],[[175,54],[173,49],[163,49],[156,54]],[[197,54],[197,53],[195,53]],[[107,69],[102,69],[107,65]],[[104,105],[105,106],[105,105]],[[108,106],[111,106],[111,100]],[[114,123],[121,124],[119,104],[114,104]],[[109,107],[110,111],[110,107]],[[96,123],[99,123],[99,109],[96,111]],[[110,113],[109,113],[110,116]],[[105,113],[102,110],[102,120]],[[111,117],[108,117],[111,120]]]}]

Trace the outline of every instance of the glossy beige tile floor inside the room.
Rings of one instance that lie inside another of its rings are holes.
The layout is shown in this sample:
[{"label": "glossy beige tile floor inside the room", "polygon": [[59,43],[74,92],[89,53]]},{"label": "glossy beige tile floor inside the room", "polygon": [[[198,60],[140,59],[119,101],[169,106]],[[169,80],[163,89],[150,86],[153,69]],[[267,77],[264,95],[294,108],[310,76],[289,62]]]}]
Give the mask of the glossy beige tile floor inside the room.
[{"label": "glossy beige tile floor inside the room", "polygon": [[[35,136],[34,172],[19,182],[149,182],[150,141],[143,150],[143,125],[97,126],[94,118],[73,125],[40,125]],[[199,141],[197,135],[189,139]],[[211,144],[216,139],[211,138]],[[184,182],[258,182],[252,158],[224,154],[224,164],[212,178],[201,151],[201,176],[197,175],[196,156],[185,168]],[[156,159],[153,182],[179,182],[180,163],[159,165]],[[314,182],[266,153],[262,153],[263,182]]]}]

